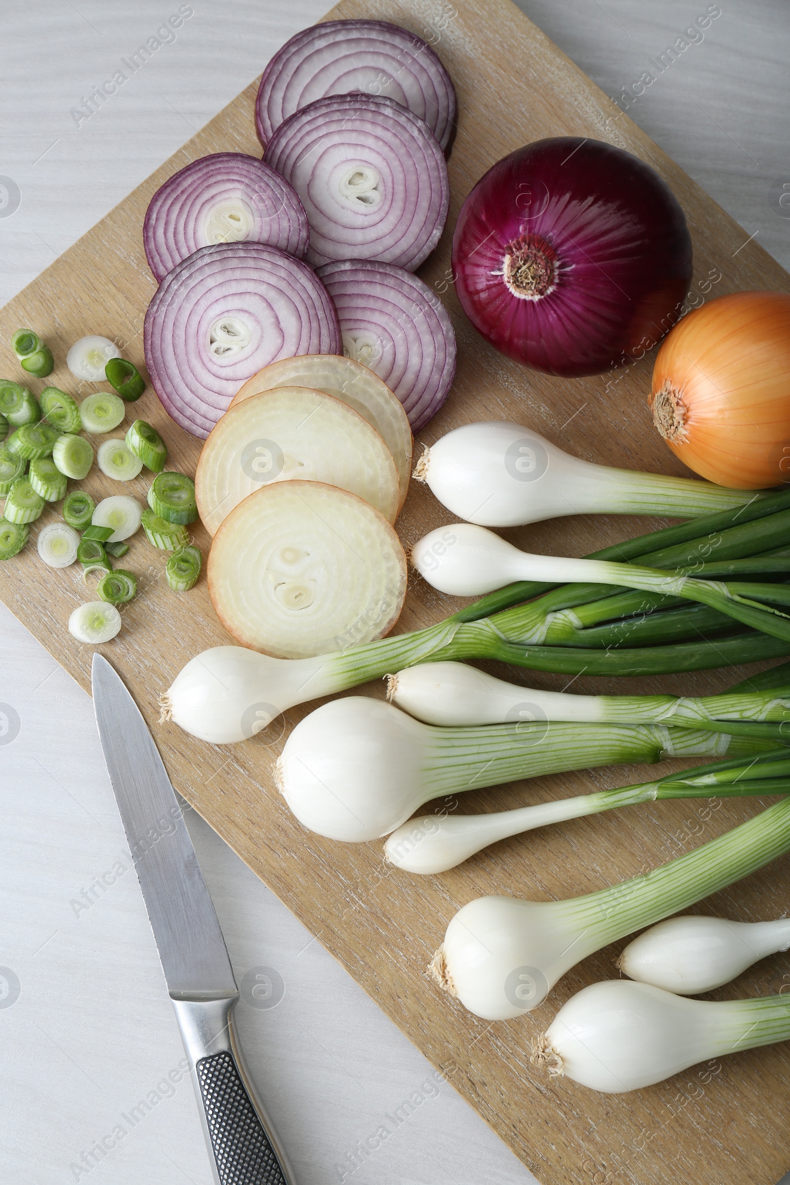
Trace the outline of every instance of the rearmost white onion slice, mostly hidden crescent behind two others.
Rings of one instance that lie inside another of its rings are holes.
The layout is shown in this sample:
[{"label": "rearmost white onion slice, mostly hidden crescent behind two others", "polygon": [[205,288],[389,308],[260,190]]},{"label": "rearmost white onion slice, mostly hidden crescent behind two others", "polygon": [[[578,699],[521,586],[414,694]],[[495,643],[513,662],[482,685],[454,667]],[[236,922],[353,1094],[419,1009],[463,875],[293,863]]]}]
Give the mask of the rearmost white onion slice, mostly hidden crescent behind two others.
[{"label": "rearmost white onion slice, mostly hidden crescent behind two others", "polygon": [[309,386],[332,395],[358,411],[375,428],[392,453],[400,483],[400,505],[409,492],[413,440],[403,404],[373,371],[341,354],[302,354],[264,366],[244,384],[231,408],[259,391],[277,386]]}]

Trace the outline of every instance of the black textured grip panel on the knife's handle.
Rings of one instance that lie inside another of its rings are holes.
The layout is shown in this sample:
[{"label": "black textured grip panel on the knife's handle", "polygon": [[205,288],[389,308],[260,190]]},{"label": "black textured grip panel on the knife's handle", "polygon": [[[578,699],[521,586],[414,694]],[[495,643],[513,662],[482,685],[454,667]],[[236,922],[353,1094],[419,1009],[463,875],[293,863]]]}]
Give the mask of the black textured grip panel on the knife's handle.
[{"label": "black textured grip panel on the knife's handle", "polygon": [[231,1055],[204,1057],[195,1071],[221,1185],[287,1185]]}]

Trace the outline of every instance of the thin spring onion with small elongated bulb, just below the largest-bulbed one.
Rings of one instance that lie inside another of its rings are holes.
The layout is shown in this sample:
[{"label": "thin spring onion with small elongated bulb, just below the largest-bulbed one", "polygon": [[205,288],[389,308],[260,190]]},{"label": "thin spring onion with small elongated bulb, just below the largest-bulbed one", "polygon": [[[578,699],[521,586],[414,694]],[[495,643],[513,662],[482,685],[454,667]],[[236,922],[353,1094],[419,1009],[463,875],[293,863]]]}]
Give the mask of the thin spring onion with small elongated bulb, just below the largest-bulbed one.
[{"label": "thin spring onion with small elongated bulb, just below the largest-bulbed one", "polygon": [[[534,735],[540,737],[540,730]],[[715,766],[687,769],[682,774],[669,774],[641,786],[599,790],[554,802],[516,807],[513,811],[477,815],[454,814],[444,818],[422,815],[410,819],[392,832],[385,844],[385,858],[406,872],[423,876],[447,872],[489,844],[496,844],[512,835],[521,835],[535,827],[663,799],[788,794],[789,775],[790,755],[786,750],[777,750],[752,756],[745,764],[741,758],[734,758]]]}]

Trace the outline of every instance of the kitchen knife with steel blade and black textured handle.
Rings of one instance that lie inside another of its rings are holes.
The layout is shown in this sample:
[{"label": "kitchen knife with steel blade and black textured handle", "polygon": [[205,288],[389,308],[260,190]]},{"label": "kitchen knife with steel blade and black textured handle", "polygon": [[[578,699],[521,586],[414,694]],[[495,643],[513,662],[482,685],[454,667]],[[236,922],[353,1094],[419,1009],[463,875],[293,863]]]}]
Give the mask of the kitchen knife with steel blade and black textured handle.
[{"label": "kitchen knife with steel blade and black textured handle", "polygon": [[216,1185],[294,1185],[242,1058],[223,931],[167,770],[121,677],[94,654],[104,761],[156,939]]}]

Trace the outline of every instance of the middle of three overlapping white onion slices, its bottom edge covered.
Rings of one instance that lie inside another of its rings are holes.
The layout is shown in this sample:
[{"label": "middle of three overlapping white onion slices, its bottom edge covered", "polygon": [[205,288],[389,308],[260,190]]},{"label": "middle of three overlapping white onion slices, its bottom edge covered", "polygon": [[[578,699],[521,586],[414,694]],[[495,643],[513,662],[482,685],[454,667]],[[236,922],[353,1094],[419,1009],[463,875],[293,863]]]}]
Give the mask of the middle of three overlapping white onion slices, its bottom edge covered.
[{"label": "middle of three overlapping white onion slices, its bottom edge covered", "polygon": [[392,454],[346,403],[306,386],[262,391],[225,412],[204,444],[194,493],[213,534],[235,506],[277,481],[323,481],[394,523],[400,486]]}]

